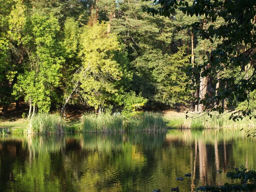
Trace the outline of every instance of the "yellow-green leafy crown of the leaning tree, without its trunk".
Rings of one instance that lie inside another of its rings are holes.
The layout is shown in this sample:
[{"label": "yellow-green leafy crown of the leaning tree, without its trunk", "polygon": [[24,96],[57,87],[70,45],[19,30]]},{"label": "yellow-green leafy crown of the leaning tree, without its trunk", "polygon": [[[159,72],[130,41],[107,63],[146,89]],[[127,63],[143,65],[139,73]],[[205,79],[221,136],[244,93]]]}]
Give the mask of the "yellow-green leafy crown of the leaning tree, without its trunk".
[{"label": "yellow-green leafy crown of the leaning tree, without its trunk", "polygon": [[84,27],[79,50],[82,67],[78,78],[87,104],[95,109],[106,105],[106,101],[118,92],[116,81],[121,80],[122,70],[115,54],[120,49],[117,35],[107,33],[106,23]]}]

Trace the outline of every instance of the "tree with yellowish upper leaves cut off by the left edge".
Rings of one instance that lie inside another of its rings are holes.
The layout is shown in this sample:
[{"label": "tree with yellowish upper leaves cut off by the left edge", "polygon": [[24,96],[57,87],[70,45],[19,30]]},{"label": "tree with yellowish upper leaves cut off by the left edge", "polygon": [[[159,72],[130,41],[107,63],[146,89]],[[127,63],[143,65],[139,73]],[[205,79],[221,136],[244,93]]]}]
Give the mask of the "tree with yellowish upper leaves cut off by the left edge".
[{"label": "tree with yellowish upper leaves cut off by the left edge", "polygon": [[5,115],[14,100],[12,86],[23,61],[21,33],[26,22],[25,6],[21,0],[0,2],[0,100]]}]

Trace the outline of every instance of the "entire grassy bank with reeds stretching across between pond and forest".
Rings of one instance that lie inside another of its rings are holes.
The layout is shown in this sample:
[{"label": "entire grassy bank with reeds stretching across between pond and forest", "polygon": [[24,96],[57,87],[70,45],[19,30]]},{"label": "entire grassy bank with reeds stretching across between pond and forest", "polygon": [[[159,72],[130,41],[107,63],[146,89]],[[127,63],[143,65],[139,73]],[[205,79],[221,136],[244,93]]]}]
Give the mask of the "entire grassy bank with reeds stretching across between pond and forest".
[{"label": "entire grassy bank with reeds stretching across between pond and forest", "polygon": [[245,117],[243,120],[229,120],[231,113],[218,116],[212,114],[198,116],[166,111],[163,113],[141,112],[130,118],[122,114],[84,114],[81,119],[66,119],[59,122],[58,115],[38,114],[30,121],[27,119],[5,119],[0,121],[0,134],[55,134],[71,132],[120,132],[120,131],[164,131],[167,128],[254,128],[256,119]]}]

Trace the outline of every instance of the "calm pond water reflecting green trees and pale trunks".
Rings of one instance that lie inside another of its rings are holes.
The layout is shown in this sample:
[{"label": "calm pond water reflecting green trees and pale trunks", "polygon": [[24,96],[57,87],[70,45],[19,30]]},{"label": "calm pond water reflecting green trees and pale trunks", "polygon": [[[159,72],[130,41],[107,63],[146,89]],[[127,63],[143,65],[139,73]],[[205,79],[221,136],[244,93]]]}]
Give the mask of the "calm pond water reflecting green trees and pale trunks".
[{"label": "calm pond water reflecting green trees and pale trunks", "polygon": [[0,191],[190,192],[230,182],[236,166],[256,168],[255,144],[232,130],[11,135],[0,138]]}]

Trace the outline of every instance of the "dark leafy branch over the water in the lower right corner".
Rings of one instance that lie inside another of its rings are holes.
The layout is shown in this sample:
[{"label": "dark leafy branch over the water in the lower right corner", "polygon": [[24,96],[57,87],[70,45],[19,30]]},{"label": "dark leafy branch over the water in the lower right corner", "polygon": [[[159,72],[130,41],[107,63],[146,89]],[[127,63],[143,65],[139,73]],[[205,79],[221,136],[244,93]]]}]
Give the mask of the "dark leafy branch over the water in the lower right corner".
[{"label": "dark leafy branch over the water in the lower right corner", "polygon": [[231,180],[240,180],[238,183],[229,184],[225,183],[222,186],[200,186],[197,191],[206,192],[234,192],[234,191],[253,191],[256,189],[256,171],[247,171],[244,166],[241,166],[241,170],[235,169],[235,172],[227,173],[227,178]]}]

